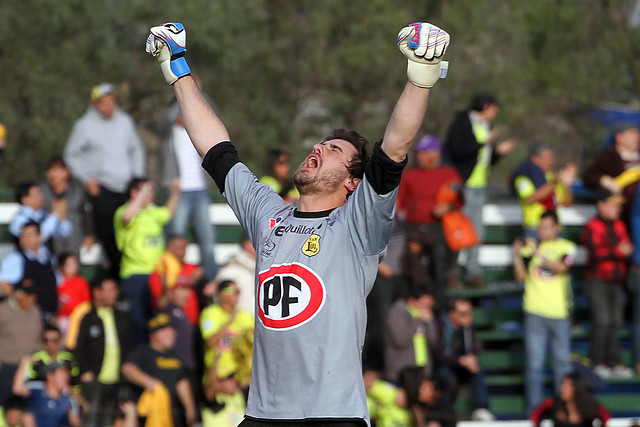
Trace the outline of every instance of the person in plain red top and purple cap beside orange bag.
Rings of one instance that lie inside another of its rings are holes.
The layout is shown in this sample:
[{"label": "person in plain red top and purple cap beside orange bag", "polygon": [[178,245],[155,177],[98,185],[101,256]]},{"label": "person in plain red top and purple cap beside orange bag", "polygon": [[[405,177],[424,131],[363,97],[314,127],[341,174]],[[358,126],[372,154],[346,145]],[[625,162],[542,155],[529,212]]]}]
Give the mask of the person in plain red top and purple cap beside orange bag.
[{"label": "person in plain red top and purple cap beside orange bag", "polygon": [[407,268],[403,274],[413,282],[417,280],[416,276],[426,277],[427,274],[422,272],[415,274],[422,267],[426,268],[426,256],[436,306],[442,309],[447,283],[454,280],[455,274],[451,271],[451,254],[442,231],[441,218],[460,206],[438,204],[437,196],[443,185],[461,190],[462,179],[455,168],[440,163],[442,146],[437,137],[423,136],[414,150],[417,165],[402,174],[396,204],[398,218],[404,223],[407,233],[408,246],[403,260]]}]

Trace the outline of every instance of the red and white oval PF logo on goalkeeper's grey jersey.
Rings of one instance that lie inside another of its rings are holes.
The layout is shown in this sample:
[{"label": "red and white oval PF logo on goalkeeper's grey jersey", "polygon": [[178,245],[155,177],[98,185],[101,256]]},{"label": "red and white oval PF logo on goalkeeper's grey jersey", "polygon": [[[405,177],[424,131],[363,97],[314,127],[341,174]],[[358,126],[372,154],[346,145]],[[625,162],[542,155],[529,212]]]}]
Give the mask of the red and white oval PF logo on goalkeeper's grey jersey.
[{"label": "red and white oval PF logo on goalkeeper's grey jersey", "polygon": [[297,328],[313,319],[324,305],[324,283],[305,265],[272,265],[258,274],[258,282],[258,318],[265,328]]}]

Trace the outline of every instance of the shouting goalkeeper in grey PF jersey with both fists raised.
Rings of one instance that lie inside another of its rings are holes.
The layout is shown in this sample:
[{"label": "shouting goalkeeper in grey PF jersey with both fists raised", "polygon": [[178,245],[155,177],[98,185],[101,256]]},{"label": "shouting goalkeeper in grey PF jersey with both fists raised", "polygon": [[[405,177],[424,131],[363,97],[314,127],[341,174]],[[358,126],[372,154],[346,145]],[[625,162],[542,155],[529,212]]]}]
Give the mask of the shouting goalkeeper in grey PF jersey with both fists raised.
[{"label": "shouting goalkeeper in grey PF jersey with both fists raised", "polygon": [[300,201],[292,206],[241,163],[190,76],[183,25],[151,28],[147,51],[175,89],[202,166],[257,252],[253,370],[242,426],[370,424],[361,367],[365,301],[448,44],[449,35],[428,23],[400,31],[409,81],[384,138],[370,158],[355,131],[338,129],[315,144],[295,173]]}]

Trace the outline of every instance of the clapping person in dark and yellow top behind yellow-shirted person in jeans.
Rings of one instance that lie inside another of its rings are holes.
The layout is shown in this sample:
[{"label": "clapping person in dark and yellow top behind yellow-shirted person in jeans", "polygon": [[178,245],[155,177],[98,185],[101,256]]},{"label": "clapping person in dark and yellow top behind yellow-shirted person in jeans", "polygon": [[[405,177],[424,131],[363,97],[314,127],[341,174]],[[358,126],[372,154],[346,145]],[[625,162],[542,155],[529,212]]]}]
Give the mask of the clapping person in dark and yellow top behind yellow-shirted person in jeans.
[{"label": "clapping person in dark and yellow top behind yellow-shirted person in jeans", "polygon": [[535,143],[529,150],[529,159],[513,172],[513,188],[520,199],[522,227],[525,237],[538,237],[538,224],[546,211],[556,211],[558,206],[573,204],[571,186],[578,174],[575,163],[568,163],[553,172],[555,155],[551,146]]}]

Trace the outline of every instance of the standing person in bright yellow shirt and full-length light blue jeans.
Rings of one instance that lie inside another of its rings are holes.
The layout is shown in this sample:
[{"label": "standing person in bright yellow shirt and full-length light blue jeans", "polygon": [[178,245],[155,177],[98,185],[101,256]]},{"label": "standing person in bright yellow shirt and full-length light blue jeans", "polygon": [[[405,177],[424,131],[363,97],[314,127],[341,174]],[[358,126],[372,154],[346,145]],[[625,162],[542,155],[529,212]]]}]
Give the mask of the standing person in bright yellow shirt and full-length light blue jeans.
[{"label": "standing person in bright yellow shirt and full-length light blue jeans", "polygon": [[527,354],[526,401],[528,411],[542,402],[542,380],[547,345],[551,348],[556,393],[571,370],[571,276],[576,244],[559,238],[558,216],[542,214],[540,241],[517,239],[513,243],[513,271],[524,282],[524,336]]}]

